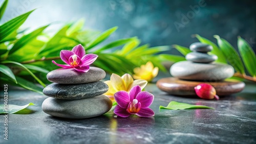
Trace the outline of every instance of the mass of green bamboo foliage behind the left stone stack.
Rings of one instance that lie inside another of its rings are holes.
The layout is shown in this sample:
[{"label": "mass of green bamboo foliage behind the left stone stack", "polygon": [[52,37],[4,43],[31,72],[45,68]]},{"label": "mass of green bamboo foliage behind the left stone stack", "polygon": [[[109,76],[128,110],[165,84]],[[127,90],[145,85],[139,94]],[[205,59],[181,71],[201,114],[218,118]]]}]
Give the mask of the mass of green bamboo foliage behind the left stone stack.
[{"label": "mass of green bamboo foliage behind the left stone stack", "polygon": [[[5,1],[1,6],[0,18],[7,4],[8,1]],[[19,27],[33,11],[17,16],[0,26],[1,83],[41,93],[45,83],[49,83],[46,74],[53,69],[60,68],[51,61],[63,63],[59,58],[60,51],[72,50],[77,44],[82,44],[87,54],[97,54],[99,57],[93,65],[110,74],[133,74],[135,67],[147,61],[152,61],[160,70],[165,70],[161,62],[166,58],[155,54],[169,50],[169,46],[140,45],[137,37],[118,39],[101,46],[102,42],[117,30],[117,27],[102,33],[87,30],[83,29],[83,19],[63,26],[53,36],[49,36],[45,31],[51,27],[50,25],[40,27],[30,33],[27,29],[20,30]],[[118,49],[120,47],[121,49]]]}]

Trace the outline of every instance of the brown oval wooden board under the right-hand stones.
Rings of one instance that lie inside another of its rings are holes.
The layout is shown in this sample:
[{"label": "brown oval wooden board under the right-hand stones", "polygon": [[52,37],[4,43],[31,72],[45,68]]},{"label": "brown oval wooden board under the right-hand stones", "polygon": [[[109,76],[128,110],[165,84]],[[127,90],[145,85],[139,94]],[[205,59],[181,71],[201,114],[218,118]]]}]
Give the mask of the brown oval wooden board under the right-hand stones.
[{"label": "brown oval wooden board under the right-hand stones", "polygon": [[196,95],[194,87],[200,83],[212,85],[217,92],[217,95],[230,95],[240,92],[244,89],[245,83],[237,80],[223,82],[197,82],[185,81],[178,78],[163,78],[157,81],[157,87],[169,94],[174,95]]}]

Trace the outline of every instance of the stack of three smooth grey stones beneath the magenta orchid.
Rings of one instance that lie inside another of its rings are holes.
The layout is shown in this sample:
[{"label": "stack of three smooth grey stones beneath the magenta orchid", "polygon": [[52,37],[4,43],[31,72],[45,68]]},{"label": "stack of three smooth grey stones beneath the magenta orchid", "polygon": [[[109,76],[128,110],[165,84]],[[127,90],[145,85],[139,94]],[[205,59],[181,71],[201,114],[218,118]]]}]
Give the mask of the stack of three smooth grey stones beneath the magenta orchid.
[{"label": "stack of three smooth grey stones beneath the magenta orchid", "polygon": [[42,91],[47,98],[42,110],[52,116],[65,118],[89,118],[108,112],[112,101],[102,95],[109,87],[101,82],[105,71],[91,67],[87,73],[75,69],[56,69],[47,74],[53,84]]}]

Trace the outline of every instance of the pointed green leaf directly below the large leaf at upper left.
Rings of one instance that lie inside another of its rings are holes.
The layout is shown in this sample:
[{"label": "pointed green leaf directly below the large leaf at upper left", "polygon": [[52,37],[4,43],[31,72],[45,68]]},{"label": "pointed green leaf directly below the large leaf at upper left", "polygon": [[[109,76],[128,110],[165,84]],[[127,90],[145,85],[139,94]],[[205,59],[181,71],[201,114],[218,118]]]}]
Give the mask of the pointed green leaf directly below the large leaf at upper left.
[{"label": "pointed green leaf directly below the large leaf at upper left", "polygon": [[19,49],[22,49],[23,46],[25,46],[28,42],[32,41],[33,39],[35,39],[38,35],[40,35],[42,33],[42,31],[44,31],[47,27],[41,27],[33,32],[31,32],[30,34],[27,34],[25,36],[23,36],[22,38],[20,38],[12,47],[12,49],[9,51],[9,55],[11,55],[12,53],[16,52]]}]

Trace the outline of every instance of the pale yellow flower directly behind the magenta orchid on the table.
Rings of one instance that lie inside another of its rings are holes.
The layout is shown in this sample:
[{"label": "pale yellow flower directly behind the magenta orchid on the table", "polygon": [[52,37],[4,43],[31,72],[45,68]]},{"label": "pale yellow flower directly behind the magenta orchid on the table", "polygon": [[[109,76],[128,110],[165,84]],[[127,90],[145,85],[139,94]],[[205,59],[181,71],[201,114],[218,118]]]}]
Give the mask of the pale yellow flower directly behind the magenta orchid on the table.
[{"label": "pale yellow flower directly behind the magenta orchid on the table", "polygon": [[130,92],[133,86],[139,85],[141,89],[143,89],[147,81],[145,80],[133,80],[133,77],[130,74],[124,74],[122,77],[118,76],[117,74],[112,74],[109,81],[105,81],[109,86],[109,90],[104,93],[104,95],[108,96],[112,102],[115,101],[114,94],[117,91],[124,90]]}]

